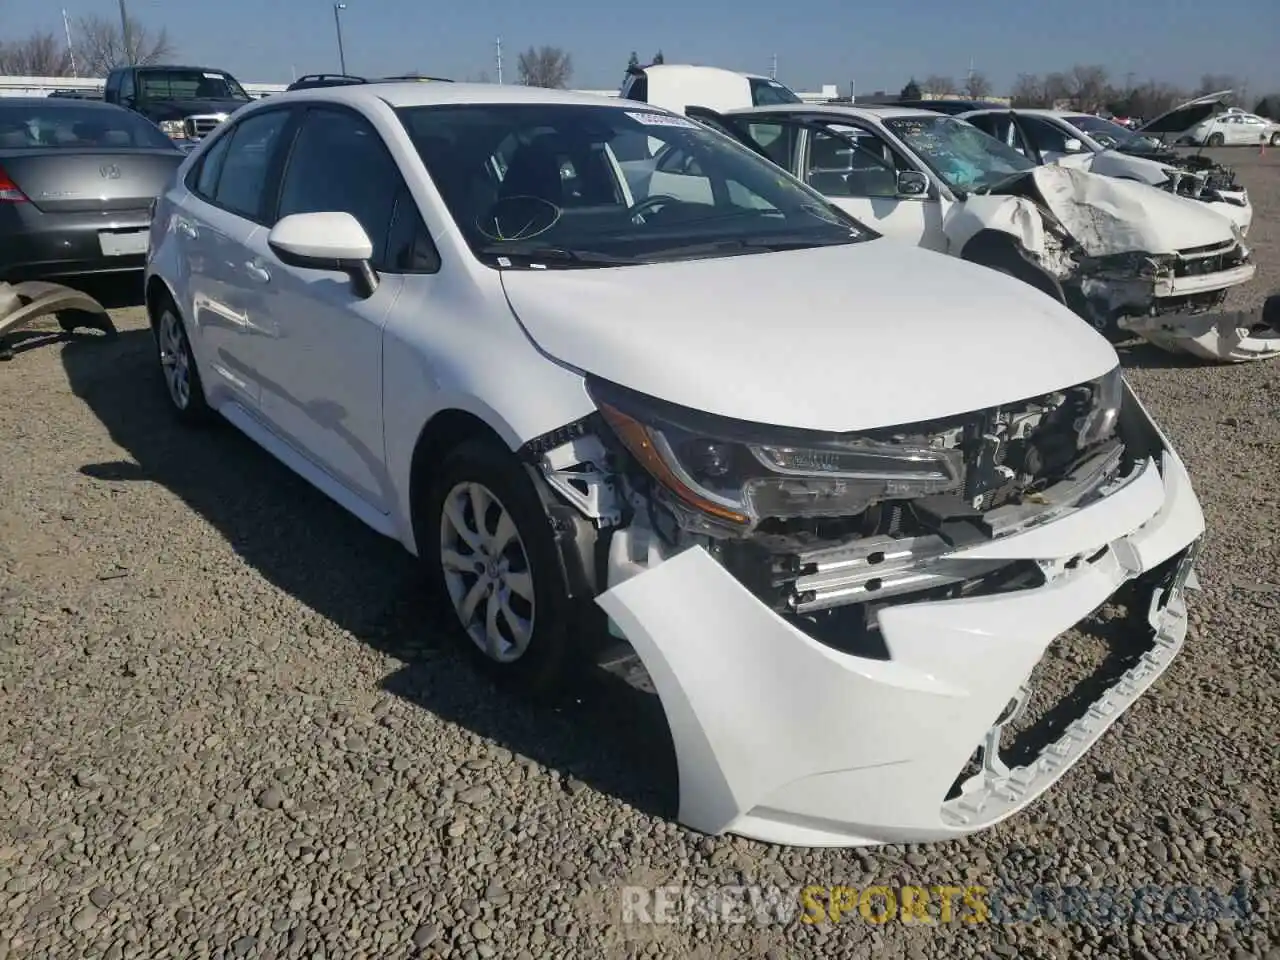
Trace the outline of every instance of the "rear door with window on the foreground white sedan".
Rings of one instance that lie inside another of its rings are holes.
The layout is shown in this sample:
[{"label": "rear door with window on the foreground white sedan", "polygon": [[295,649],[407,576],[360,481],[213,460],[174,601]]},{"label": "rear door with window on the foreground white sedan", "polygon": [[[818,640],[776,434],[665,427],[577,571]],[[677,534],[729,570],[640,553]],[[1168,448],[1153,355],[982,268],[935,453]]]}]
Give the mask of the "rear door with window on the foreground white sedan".
[{"label": "rear door with window on the foreground white sedan", "polygon": [[192,198],[175,224],[192,293],[195,348],[214,404],[257,413],[269,335],[270,279],[251,241],[266,233],[266,205],[279,179],[293,110],[266,109],[237,122],[191,172]]}]

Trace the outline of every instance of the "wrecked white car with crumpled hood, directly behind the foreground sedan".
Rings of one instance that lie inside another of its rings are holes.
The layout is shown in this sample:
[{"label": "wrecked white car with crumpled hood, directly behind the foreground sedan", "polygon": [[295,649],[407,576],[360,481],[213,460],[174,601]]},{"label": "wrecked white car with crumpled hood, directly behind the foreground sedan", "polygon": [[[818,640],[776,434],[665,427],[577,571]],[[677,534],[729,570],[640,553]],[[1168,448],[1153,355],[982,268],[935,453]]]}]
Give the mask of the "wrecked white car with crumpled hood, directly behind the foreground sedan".
[{"label": "wrecked white car with crumpled hood, directly behind the foreground sedan", "polygon": [[[1235,315],[1215,312],[1254,265],[1239,228],[1206,204],[1039,166],[969,123],[925,110],[686,113],[886,236],[1018,276],[1114,340],[1158,328],[1153,343],[1220,361],[1257,360],[1280,347],[1261,315],[1239,328]],[[681,163],[668,151],[657,169],[680,173]]]}]

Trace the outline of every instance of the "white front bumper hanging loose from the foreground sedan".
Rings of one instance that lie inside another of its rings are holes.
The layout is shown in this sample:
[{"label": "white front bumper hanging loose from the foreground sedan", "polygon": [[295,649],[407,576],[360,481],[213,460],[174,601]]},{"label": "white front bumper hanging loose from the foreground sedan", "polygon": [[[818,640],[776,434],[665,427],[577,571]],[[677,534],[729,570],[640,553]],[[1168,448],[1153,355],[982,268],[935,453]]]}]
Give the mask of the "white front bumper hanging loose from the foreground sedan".
[{"label": "white front bumper hanging loose from the foreground sedan", "polygon": [[[1047,581],[887,607],[887,659],[812,639],[700,547],[634,572],[598,603],[662,699],[682,823],[806,846],[925,842],[1029,804],[1165,671],[1185,636],[1183,586],[1203,530],[1166,447],[1088,507],[957,550],[957,561],[1039,561]],[[998,744],[1002,714],[1050,644],[1161,564],[1172,572],[1151,595],[1155,640],[1140,662],[1027,765],[1009,769],[988,749],[948,800],[978,748]]]}]

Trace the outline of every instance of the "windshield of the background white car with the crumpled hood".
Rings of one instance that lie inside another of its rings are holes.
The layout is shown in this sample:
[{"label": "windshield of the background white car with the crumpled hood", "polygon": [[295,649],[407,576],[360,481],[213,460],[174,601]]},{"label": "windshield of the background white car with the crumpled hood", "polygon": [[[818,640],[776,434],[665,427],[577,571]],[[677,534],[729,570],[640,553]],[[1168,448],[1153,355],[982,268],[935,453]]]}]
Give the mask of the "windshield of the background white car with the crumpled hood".
[{"label": "windshield of the background white car with the crumpled hood", "polygon": [[961,193],[1036,169],[1012,147],[954,116],[891,116],[884,125]]}]

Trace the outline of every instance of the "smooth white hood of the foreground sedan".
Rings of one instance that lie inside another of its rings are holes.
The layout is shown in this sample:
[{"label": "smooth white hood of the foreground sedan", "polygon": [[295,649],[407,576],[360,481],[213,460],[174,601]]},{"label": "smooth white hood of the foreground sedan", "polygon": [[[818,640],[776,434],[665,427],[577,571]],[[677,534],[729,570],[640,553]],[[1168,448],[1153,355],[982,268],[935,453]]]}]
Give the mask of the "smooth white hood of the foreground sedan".
[{"label": "smooth white hood of the foreground sedan", "polygon": [[891,239],[504,270],[502,282],[550,357],[671,403],[777,426],[910,424],[1048,393],[1117,364],[1088,324],[1021,280]]}]

